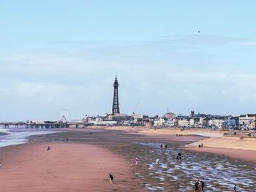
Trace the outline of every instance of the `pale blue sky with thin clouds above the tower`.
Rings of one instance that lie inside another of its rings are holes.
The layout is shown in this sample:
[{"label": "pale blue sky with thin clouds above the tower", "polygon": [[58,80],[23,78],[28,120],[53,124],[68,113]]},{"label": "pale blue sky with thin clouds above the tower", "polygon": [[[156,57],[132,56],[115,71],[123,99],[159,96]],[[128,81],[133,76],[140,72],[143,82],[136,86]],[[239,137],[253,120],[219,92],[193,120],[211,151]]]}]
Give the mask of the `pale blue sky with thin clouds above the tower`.
[{"label": "pale blue sky with thin clouds above the tower", "polygon": [[256,113],[256,1],[0,1],[0,121]]}]

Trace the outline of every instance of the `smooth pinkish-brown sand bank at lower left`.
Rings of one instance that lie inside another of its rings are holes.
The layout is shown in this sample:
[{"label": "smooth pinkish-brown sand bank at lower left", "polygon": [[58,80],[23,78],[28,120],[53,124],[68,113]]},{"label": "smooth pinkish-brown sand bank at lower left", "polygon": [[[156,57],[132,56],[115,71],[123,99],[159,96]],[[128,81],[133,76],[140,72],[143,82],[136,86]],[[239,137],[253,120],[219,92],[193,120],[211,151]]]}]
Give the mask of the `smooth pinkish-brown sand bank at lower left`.
[{"label": "smooth pinkish-brown sand bank at lower left", "polygon": [[[0,155],[4,192],[126,191],[133,177],[129,162],[94,145],[35,142],[2,147]],[[113,185],[109,173],[114,176]]]}]

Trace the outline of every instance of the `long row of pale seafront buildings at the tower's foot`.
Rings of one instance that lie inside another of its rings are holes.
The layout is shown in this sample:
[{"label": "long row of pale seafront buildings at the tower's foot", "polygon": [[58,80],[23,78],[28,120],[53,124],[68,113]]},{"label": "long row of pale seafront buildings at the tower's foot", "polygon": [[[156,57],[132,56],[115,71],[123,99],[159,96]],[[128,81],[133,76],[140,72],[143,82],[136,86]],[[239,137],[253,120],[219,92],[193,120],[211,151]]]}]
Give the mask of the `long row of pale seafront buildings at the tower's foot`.
[{"label": "long row of pale seafront buildings at the tower's foot", "polygon": [[89,125],[102,126],[150,126],[155,128],[256,128],[256,114],[240,116],[206,115],[191,112],[190,115],[176,115],[167,112],[164,116],[148,117],[148,115],[106,115],[86,117]]}]

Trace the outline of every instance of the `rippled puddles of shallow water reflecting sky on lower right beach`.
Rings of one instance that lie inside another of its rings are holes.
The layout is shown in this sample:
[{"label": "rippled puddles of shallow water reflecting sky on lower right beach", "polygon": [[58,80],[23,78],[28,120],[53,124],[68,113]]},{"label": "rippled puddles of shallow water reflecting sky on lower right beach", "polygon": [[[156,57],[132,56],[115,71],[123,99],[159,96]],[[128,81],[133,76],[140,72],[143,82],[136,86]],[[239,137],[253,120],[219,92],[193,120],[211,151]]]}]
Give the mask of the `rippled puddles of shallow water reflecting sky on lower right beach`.
[{"label": "rippled puddles of shallow water reflecting sky on lower right beach", "polygon": [[[140,145],[136,153],[140,164],[148,169],[138,177],[148,177],[152,183],[146,183],[148,191],[193,191],[196,180],[203,180],[205,191],[233,191],[236,184],[238,191],[255,192],[255,164],[237,161],[221,155],[196,153],[179,150],[178,145],[161,149],[159,143],[133,143]],[[176,160],[181,153],[182,160]],[[160,168],[156,158],[160,158]]]}]

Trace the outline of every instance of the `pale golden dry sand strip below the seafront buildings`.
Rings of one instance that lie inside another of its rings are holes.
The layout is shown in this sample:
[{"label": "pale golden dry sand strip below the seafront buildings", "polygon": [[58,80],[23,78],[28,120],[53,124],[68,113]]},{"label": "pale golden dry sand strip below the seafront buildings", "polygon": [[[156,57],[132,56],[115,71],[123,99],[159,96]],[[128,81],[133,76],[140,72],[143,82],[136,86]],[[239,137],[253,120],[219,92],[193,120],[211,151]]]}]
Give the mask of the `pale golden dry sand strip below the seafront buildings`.
[{"label": "pale golden dry sand strip below the seafront buildings", "polygon": [[[97,127],[98,128],[98,127]],[[190,129],[181,131],[176,128],[169,129],[154,129],[148,127],[103,127],[105,130],[119,130],[126,131],[131,134],[142,134],[148,137],[171,137],[176,134],[181,135],[177,138],[187,136],[200,136],[196,142],[191,142],[189,145],[184,145],[182,149],[190,150],[200,153],[212,153],[217,155],[225,155],[230,158],[238,158],[239,160],[256,162],[256,138],[252,140],[223,137],[223,131],[212,131],[206,129]],[[203,143],[203,148],[197,147],[198,144]],[[203,150],[197,150],[203,149]],[[218,151],[219,150],[219,151]],[[239,155],[243,154],[243,155]],[[254,158],[255,157],[255,158]]]}]

